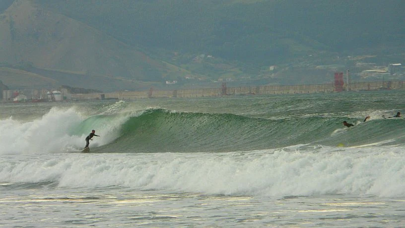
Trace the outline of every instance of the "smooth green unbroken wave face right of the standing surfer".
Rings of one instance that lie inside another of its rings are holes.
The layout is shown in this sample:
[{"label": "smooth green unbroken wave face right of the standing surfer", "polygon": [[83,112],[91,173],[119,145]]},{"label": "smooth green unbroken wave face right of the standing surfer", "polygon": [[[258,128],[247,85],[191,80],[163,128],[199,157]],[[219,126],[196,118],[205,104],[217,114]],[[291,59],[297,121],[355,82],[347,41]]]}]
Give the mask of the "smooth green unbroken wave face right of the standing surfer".
[{"label": "smooth green unbroken wave face right of the standing surfer", "polygon": [[[114,122],[118,115],[86,119],[88,125]],[[265,119],[236,114],[206,114],[147,109],[111,127],[116,138],[99,152],[228,152],[297,144],[361,146],[405,143],[403,119],[377,119],[346,128],[341,117]],[[122,121],[122,120],[121,120]],[[367,132],[367,134],[364,134]],[[365,136],[366,135],[366,136]]]}]

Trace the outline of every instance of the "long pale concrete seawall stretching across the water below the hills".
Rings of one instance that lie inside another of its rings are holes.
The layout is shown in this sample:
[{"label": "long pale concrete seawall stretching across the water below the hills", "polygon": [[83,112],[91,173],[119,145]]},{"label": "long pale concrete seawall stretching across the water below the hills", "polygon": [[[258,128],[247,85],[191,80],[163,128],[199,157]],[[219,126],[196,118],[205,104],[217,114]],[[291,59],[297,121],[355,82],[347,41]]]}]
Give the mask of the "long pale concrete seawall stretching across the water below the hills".
[{"label": "long pale concrete seawall stretching across the water below the hills", "polygon": [[[375,91],[375,90],[402,90],[405,89],[403,81],[388,82],[356,82],[343,91]],[[303,93],[333,93],[336,92],[334,84],[319,85],[268,85],[256,87],[229,87],[211,89],[185,89],[185,90],[153,90],[153,91],[117,91],[112,93],[72,94],[73,100],[119,99],[135,100],[145,98],[195,98],[217,97],[223,95],[266,95],[266,94],[303,94]]]}]

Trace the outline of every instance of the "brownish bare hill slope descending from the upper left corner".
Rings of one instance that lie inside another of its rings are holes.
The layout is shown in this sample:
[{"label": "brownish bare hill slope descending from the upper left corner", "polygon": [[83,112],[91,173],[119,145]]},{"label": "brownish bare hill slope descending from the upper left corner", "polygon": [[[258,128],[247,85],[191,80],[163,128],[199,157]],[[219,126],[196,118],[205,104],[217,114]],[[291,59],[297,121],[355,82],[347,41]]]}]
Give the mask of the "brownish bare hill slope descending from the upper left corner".
[{"label": "brownish bare hill slope descending from the upper left corner", "polygon": [[171,71],[165,62],[29,0],[15,0],[0,15],[0,41],[1,63],[135,81],[161,81]]}]

